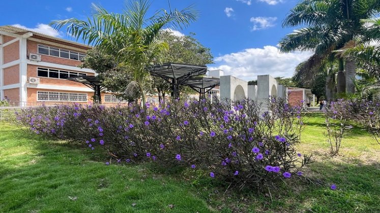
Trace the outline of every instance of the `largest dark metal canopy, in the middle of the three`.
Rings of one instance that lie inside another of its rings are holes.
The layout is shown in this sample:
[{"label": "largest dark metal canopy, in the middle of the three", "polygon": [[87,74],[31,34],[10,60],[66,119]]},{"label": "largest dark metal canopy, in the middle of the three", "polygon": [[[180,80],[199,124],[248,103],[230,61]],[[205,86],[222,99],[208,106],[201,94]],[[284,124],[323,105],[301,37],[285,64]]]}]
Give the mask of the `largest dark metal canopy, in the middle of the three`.
[{"label": "largest dark metal canopy, in the middle of the three", "polygon": [[149,73],[152,76],[158,76],[169,82],[172,86],[174,97],[180,95],[180,85],[185,85],[191,77],[205,75],[207,66],[181,64],[181,63],[164,63],[148,67]]}]

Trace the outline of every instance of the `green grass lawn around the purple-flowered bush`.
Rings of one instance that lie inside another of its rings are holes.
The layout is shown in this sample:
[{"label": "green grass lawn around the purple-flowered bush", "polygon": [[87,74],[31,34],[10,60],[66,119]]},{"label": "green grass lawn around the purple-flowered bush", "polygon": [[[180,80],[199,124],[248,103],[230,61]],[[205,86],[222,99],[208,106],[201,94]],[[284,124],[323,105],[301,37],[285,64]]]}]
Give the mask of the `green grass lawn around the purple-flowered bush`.
[{"label": "green grass lawn around the purple-flowered bush", "polygon": [[304,123],[298,149],[313,155],[305,172],[312,183],[260,195],[151,164],[106,166],[102,151],[0,123],[0,212],[380,212],[380,145],[354,128],[331,157],[324,118]]}]

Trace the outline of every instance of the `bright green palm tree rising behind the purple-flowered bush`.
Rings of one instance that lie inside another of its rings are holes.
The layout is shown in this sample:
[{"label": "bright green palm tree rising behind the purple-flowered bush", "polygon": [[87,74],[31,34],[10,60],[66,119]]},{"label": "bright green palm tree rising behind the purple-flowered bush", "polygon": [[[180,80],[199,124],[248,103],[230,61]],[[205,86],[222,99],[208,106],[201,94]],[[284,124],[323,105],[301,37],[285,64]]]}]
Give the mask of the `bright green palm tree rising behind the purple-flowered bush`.
[{"label": "bright green palm tree rising behind the purple-flowered bush", "polygon": [[[76,40],[96,46],[98,49],[116,56],[116,59],[131,73],[131,85],[145,102],[150,75],[145,67],[154,62],[157,55],[168,50],[168,44],[158,39],[165,28],[180,28],[198,18],[192,6],[183,10],[161,9],[148,16],[149,0],[129,0],[122,14],[108,13],[93,4],[93,17],[86,21],[70,18],[51,23],[59,30],[67,26],[67,32]],[[130,92],[130,91],[128,91]],[[136,92],[134,92],[136,93]]]}]

